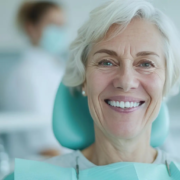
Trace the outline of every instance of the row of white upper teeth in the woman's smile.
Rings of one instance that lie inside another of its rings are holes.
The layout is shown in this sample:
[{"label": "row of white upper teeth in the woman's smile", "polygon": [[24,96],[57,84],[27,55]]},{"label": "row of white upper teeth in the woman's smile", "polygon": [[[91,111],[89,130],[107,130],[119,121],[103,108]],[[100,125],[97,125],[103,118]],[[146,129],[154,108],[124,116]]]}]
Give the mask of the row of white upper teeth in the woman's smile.
[{"label": "row of white upper teeth in the woman's smile", "polygon": [[137,102],[119,102],[119,101],[108,101],[108,104],[113,106],[113,107],[120,107],[120,108],[132,108],[132,107],[137,107],[139,106],[140,103]]}]

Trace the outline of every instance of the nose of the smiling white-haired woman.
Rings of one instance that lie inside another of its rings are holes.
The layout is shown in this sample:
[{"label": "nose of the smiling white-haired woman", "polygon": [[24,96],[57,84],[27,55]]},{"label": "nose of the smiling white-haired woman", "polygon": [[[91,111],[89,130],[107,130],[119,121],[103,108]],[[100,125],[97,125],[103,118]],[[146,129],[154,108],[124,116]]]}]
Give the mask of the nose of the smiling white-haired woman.
[{"label": "nose of the smiling white-haired woman", "polygon": [[139,81],[135,75],[132,67],[120,68],[116,77],[113,80],[115,88],[122,89],[124,92],[128,92],[131,89],[137,89]]}]

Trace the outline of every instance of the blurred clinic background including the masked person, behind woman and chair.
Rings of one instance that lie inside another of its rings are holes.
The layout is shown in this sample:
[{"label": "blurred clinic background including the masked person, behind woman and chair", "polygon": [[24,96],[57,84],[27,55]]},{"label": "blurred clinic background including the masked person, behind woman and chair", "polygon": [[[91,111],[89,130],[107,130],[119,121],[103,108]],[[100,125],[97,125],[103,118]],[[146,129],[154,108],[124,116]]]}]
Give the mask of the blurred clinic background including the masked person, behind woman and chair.
[{"label": "blurred clinic background including the masked person, behind woman and chair", "polygon": [[[0,174],[13,170],[14,158],[39,160],[71,152],[51,130],[53,102],[70,42],[89,12],[105,1],[0,1]],[[180,31],[180,1],[151,2]],[[180,156],[180,95],[167,104],[170,133],[161,148]]]}]

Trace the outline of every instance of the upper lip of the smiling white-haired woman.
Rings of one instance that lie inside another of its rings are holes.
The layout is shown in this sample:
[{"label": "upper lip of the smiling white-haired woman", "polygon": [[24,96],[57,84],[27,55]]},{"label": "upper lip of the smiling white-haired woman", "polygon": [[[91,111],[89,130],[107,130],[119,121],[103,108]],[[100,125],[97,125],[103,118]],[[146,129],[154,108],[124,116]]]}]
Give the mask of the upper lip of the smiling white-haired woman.
[{"label": "upper lip of the smiling white-haired woman", "polygon": [[145,102],[143,99],[140,98],[135,98],[135,97],[130,97],[130,96],[113,96],[113,97],[109,97],[106,98],[105,101],[118,101],[118,102],[140,102],[143,101]]}]

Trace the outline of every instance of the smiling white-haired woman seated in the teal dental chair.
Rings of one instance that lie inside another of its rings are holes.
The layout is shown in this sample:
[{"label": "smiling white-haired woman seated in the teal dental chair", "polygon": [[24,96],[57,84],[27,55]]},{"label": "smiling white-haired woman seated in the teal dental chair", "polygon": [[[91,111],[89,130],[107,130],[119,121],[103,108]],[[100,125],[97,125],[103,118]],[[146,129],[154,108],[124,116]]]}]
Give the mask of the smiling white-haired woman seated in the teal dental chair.
[{"label": "smiling white-haired woman seated in the teal dental chair", "polygon": [[163,98],[179,80],[178,41],[170,19],[144,0],[115,0],[92,11],[71,45],[64,84],[80,86],[87,96],[95,142],[49,162],[78,163],[83,170],[176,161],[150,146],[150,134]]}]

